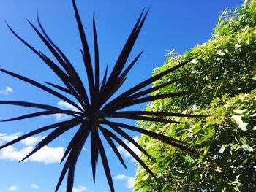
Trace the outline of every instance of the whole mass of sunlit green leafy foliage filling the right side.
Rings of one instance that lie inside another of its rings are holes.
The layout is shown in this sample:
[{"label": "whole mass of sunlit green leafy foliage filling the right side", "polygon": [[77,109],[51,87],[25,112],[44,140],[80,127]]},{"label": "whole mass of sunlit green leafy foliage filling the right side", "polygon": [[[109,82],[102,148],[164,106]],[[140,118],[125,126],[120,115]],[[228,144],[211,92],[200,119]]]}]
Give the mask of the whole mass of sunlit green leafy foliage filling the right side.
[{"label": "whole mass of sunlit green leafy foliage filling the right side", "polygon": [[209,115],[207,118],[173,118],[184,124],[148,123],[141,128],[157,131],[189,143],[193,155],[143,135],[140,145],[156,158],[148,161],[155,180],[140,166],[138,191],[255,191],[256,190],[256,8],[244,1],[234,12],[219,17],[211,39],[184,55],[170,53],[154,75],[199,55],[192,64],[154,83],[186,77],[157,93],[203,90],[186,98],[162,99],[146,110]]}]

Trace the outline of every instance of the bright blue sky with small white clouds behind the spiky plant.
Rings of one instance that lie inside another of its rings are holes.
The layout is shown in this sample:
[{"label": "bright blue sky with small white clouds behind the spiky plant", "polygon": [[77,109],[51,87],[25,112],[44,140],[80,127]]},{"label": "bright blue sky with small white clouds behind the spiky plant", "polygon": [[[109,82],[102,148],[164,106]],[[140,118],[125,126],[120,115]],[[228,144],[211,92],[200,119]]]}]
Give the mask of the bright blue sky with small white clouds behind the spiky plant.
[{"label": "bright blue sky with small white clouds behind the spiky plant", "polygon": [[[234,9],[241,5],[242,1],[77,0],[77,4],[89,39],[89,45],[93,45],[91,41],[93,39],[92,15],[94,11],[96,13],[102,68],[106,64],[109,64],[110,68],[113,66],[141,10],[144,7],[151,7],[130,59],[134,58],[140,50],[144,49],[145,52],[128,75],[127,82],[122,89],[125,90],[130,85],[135,85],[136,82],[150,77],[154,68],[164,64],[169,50],[176,49],[178,53],[184,53],[195,45],[208,41],[213,32],[212,29],[217,24],[217,17],[222,10],[225,8]],[[37,9],[42,24],[50,37],[75,64],[80,76],[84,77],[85,72],[78,49],[80,39],[71,0],[0,1],[0,67],[31,77],[39,82],[59,82],[53,72],[10,33],[4,22],[4,20],[7,20],[21,37],[31,42],[37,49],[50,55],[26,22],[26,18],[34,23],[36,22]],[[0,100],[42,102],[43,104],[52,104],[70,109],[70,106],[63,101],[3,73],[0,74]],[[137,109],[141,110],[143,107],[145,105],[140,105]],[[34,110],[1,105],[0,118],[12,118],[31,111]],[[52,115],[12,123],[1,123],[0,144],[34,128],[64,118],[66,117]],[[130,123],[135,125],[134,121]],[[0,151],[0,192],[54,190],[62,169],[59,160],[74,132],[70,131],[59,137],[59,139],[29,158],[29,161],[18,163],[18,160],[29,153],[29,150],[46,134],[48,133],[45,132],[45,134],[37,137],[31,137]],[[130,134],[135,139],[140,137],[138,134]],[[129,142],[127,144],[130,145]],[[130,146],[132,147],[132,145]],[[106,149],[109,148],[107,145]],[[73,191],[110,191],[102,164],[97,167],[97,180],[96,183],[93,183],[88,149],[89,145],[86,145],[80,155]],[[124,169],[113,152],[108,150],[114,185],[116,191],[132,191],[136,165],[121,147],[119,147],[119,150],[124,155],[128,170]],[[65,184],[66,180],[61,185],[60,192],[65,191]]]}]

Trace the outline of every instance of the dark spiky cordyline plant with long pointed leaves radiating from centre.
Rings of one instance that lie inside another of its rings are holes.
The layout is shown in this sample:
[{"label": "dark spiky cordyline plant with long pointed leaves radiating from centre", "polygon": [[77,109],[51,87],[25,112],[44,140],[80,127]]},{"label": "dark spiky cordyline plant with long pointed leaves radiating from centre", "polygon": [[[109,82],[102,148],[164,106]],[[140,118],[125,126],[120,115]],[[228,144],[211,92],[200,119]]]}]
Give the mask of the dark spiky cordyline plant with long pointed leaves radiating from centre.
[{"label": "dark spiky cordyline plant with long pointed leaves radiating from centre", "polygon": [[[146,15],[148,14],[148,11],[144,14],[142,12],[140,14],[140,17],[138,18],[137,23],[135,24],[134,28],[132,29],[131,34],[129,35],[129,38],[127,39],[126,44],[124,45],[123,50],[121,50],[121,54],[119,55],[115,66],[113,67],[112,72],[108,75],[108,66],[105,69],[105,74],[102,79],[102,82],[100,82],[100,73],[99,73],[99,50],[98,50],[98,42],[97,42],[97,30],[95,26],[95,19],[93,18],[93,31],[94,31],[94,71],[91,63],[91,55],[89,53],[89,46],[87,44],[86,40],[86,34],[83,31],[83,25],[80,20],[80,16],[78,14],[78,9],[75,4],[75,0],[72,0],[72,4],[75,10],[75,18],[78,23],[78,29],[80,33],[80,39],[83,45],[83,49],[80,49],[84,66],[86,68],[86,74],[89,82],[89,91],[86,90],[85,86],[83,85],[83,81],[80,79],[78,73],[75,71],[75,68],[73,64],[68,60],[66,55],[61,52],[59,47],[57,47],[54,42],[48,37],[48,34],[46,34],[45,29],[42,27],[42,24],[39,21],[39,17],[37,16],[39,29],[37,29],[34,24],[32,24],[29,20],[29,24],[32,28],[34,28],[34,31],[39,35],[39,37],[42,39],[42,42],[45,43],[45,45],[48,47],[50,52],[54,55],[56,60],[59,62],[59,64],[56,64],[54,61],[52,61],[50,58],[48,58],[47,55],[40,52],[39,50],[36,50],[34,47],[29,45],[28,42],[23,40],[21,37],[18,36],[18,34],[15,33],[15,31],[10,28],[13,34],[15,34],[18,39],[20,39],[21,42],[23,42],[27,47],[29,47],[30,50],[32,50],[36,55],[39,56],[39,58],[42,59],[42,61],[47,64],[50,69],[53,70],[53,72],[59,77],[59,79],[64,83],[65,86],[56,85],[52,82],[46,82],[46,85],[42,85],[39,82],[36,82],[34,80],[31,80],[27,77],[23,77],[20,74],[15,74],[13,72],[9,72],[4,69],[0,69],[1,72],[4,72],[6,74],[10,74],[12,77],[16,77],[20,80],[23,80],[24,82],[28,82],[31,85],[36,86],[37,88],[42,89],[43,91],[46,91],[53,96],[58,97],[59,99],[62,99],[66,101],[67,103],[71,104],[73,107],[76,107],[78,110],[72,111],[72,110],[62,110],[58,107],[53,107],[46,104],[38,104],[38,103],[32,103],[32,102],[26,102],[26,101],[0,101],[0,104],[10,104],[10,105],[18,105],[23,107],[34,107],[38,109],[42,109],[42,112],[34,112],[28,115],[22,115],[17,118],[11,118],[8,120],[2,120],[4,122],[6,121],[13,121],[13,120],[22,120],[27,118],[34,118],[39,117],[42,115],[52,115],[52,114],[65,114],[72,116],[69,120],[64,120],[60,123],[53,123],[48,126],[44,126],[42,128],[38,128],[34,131],[31,131],[27,134],[24,134],[21,137],[18,137],[17,139],[12,140],[11,142],[6,143],[5,145],[2,145],[0,149],[3,149],[4,147],[10,146],[16,142],[21,141],[22,139],[26,139],[28,137],[31,137],[35,134],[42,133],[43,131],[48,131],[50,129],[53,129],[53,131],[48,134],[47,137],[42,139],[41,142],[39,142],[36,147],[34,147],[34,150],[31,151],[28,155],[26,155],[25,158],[23,158],[21,161],[25,160],[26,158],[29,158],[29,156],[36,153],[38,150],[40,150],[45,145],[48,145],[48,143],[52,142],[53,139],[56,139],[61,134],[64,134],[64,132],[69,131],[71,128],[74,128],[75,126],[79,126],[78,131],[75,133],[75,135],[72,137],[71,141],[69,142],[69,145],[67,146],[67,150],[65,151],[63,158],[61,160],[65,161],[64,167],[62,169],[61,175],[59,177],[59,182],[56,185],[56,190],[58,191],[64,176],[67,174],[67,192],[72,192],[72,186],[74,182],[74,172],[75,172],[75,165],[78,160],[78,156],[80,155],[80,152],[83,148],[83,145],[85,145],[86,139],[90,136],[91,137],[91,166],[92,166],[92,174],[93,179],[95,182],[95,169],[98,163],[99,155],[102,159],[102,164],[105,169],[105,174],[108,179],[108,184],[110,186],[110,190],[114,191],[113,187],[113,181],[110,174],[110,168],[108,165],[108,158],[105,153],[104,146],[102,145],[102,138],[99,137],[99,131],[102,133],[103,137],[105,137],[105,140],[108,142],[110,147],[112,147],[113,152],[116,153],[117,158],[121,161],[121,164],[127,169],[127,166],[124,164],[124,160],[121,157],[121,154],[118,152],[118,149],[114,142],[117,142],[119,145],[124,147],[125,150],[127,150],[137,161],[141,166],[143,166],[153,177],[157,177],[154,175],[153,172],[151,172],[150,169],[148,169],[148,166],[141,161],[140,157],[135,154],[126,144],[123,142],[120,137],[117,136],[117,134],[124,139],[127,139],[129,142],[131,142],[133,145],[138,147],[138,149],[148,156],[152,161],[154,161],[154,158],[149,155],[146,150],[144,150],[140,145],[138,145],[137,142],[135,142],[132,137],[130,137],[124,129],[137,131],[141,134],[146,134],[150,137],[153,137],[155,139],[159,139],[162,142],[165,142],[169,145],[173,145],[175,147],[178,147],[182,150],[187,150],[192,153],[195,153],[195,151],[189,149],[187,147],[187,144],[181,141],[178,141],[177,139],[173,139],[171,137],[167,137],[162,134],[158,134],[152,131],[145,130],[143,128],[138,128],[135,126],[130,126],[126,123],[118,123],[111,121],[110,118],[124,118],[124,119],[132,119],[132,120],[146,120],[146,121],[154,121],[154,122],[162,122],[162,123],[181,123],[176,122],[173,120],[169,120],[167,117],[171,116],[181,116],[181,117],[198,117],[200,115],[189,115],[189,114],[179,114],[179,113],[171,113],[171,112],[157,112],[157,111],[125,111],[126,107],[130,107],[135,104],[141,104],[148,101],[154,101],[157,99],[165,99],[170,98],[173,96],[185,96],[191,93],[195,93],[195,91],[187,91],[187,92],[178,92],[178,93],[167,93],[162,95],[154,95],[154,96],[148,96],[148,93],[152,93],[154,91],[159,90],[160,88],[164,88],[167,85],[170,85],[171,83],[178,82],[178,80],[174,80],[172,82],[166,82],[162,85],[158,85],[154,88],[146,88],[147,85],[150,85],[152,82],[161,79],[166,74],[169,74],[170,72],[175,71],[181,66],[184,66],[185,64],[189,63],[189,61],[185,61],[181,64],[178,64],[174,66],[171,69],[167,69],[165,72],[162,72],[160,74],[157,74],[154,77],[148,78],[147,80],[140,82],[138,85],[135,85],[132,88],[129,88],[124,93],[121,93],[121,95],[116,96],[115,99],[110,100],[111,96],[113,96],[116,91],[123,85],[124,81],[126,80],[127,73],[130,69],[132,69],[132,66],[138,61],[138,58],[143,52],[140,52],[138,56],[132,61],[132,63],[127,66],[126,69],[124,69],[124,65],[127,63],[127,58],[129,57],[129,53],[132,50],[133,45],[135,44],[135,41],[138,37],[138,34],[140,32],[140,29],[143,26],[143,23],[146,19]],[[63,69],[61,69],[61,67]],[[50,88],[53,87],[54,89]],[[57,91],[56,91],[57,90]],[[60,91],[60,92],[59,92]],[[67,95],[71,95],[76,99],[75,101],[72,101],[71,99],[68,99]],[[110,101],[109,101],[110,100]]]}]

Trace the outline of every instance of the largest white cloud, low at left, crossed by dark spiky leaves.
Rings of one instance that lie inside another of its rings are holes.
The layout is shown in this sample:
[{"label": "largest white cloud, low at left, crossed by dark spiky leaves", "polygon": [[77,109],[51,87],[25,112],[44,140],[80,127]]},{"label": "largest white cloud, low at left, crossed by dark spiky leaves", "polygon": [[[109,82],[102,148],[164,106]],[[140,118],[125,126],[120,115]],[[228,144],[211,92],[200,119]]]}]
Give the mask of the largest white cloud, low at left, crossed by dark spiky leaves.
[{"label": "largest white cloud, low at left, crossed by dark spiky leaves", "polygon": [[[0,133],[0,144],[4,144],[6,142],[10,142],[12,139],[16,139],[20,136],[20,133],[7,135]],[[10,160],[10,161],[20,161],[26,155],[28,155],[31,150],[34,149],[34,145],[41,141],[44,137],[29,137],[28,139],[24,139],[21,144],[25,145],[25,147],[21,149],[17,149],[13,145],[5,147],[0,150],[0,160]],[[44,164],[52,164],[61,161],[62,156],[64,155],[64,147],[42,147],[37,153],[34,153],[26,161],[36,161]]]}]

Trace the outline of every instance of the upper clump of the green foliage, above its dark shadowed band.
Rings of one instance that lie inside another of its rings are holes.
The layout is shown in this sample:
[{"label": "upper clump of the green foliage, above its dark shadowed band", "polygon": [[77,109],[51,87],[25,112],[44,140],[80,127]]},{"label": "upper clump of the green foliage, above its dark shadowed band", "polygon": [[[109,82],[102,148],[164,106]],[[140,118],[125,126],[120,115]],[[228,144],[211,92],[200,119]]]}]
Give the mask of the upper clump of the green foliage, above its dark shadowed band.
[{"label": "upper clump of the green foliage, above its dark shadowed band", "polygon": [[177,109],[187,109],[187,104],[205,107],[214,98],[225,93],[235,96],[238,93],[249,93],[256,88],[256,12],[252,9],[254,2],[251,1],[247,7],[244,7],[244,4],[235,12],[225,10],[219,17],[210,41],[198,45],[184,55],[167,58],[166,64],[154,72],[154,75],[158,74],[178,62],[200,55],[194,60],[193,65],[190,64],[155,84],[187,77],[181,83],[169,86],[162,92],[203,90],[199,98],[198,95],[194,95],[189,96],[189,100],[170,101],[171,104],[176,103]]}]

